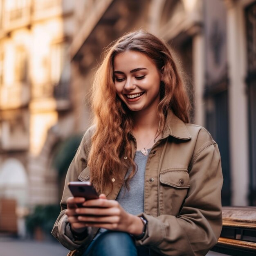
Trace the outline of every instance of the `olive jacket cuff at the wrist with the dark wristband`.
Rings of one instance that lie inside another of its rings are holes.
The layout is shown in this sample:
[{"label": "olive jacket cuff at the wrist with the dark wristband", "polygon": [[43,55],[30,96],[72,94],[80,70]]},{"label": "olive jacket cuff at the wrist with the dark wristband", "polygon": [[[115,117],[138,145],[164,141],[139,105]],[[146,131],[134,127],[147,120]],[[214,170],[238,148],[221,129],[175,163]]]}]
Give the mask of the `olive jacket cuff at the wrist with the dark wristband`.
[{"label": "olive jacket cuff at the wrist with the dark wristband", "polygon": [[148,223],[144,237],[139,240],[135,240],[136,246],[155,246],[161,243],[165,237],[165,229],[163,222],[145,213],[139,214],[138,217],[143,217],[144,219],[147,220]]}]

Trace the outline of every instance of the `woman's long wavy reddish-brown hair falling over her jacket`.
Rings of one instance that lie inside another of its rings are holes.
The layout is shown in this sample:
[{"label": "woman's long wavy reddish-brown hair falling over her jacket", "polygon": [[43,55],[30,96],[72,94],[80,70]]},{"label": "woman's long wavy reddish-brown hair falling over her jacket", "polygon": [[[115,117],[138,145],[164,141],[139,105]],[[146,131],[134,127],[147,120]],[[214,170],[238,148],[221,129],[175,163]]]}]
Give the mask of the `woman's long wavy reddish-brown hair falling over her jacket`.
[{"label": "woman's long wavy reddish-brown hair falling over her jacket", "polygon": [[[159,133],[164,129],[168,109],[182,121],[189,122],[189,98],[166,43],[141,30],[126,34],[115,41],[106,51],[92,86],[92,111],[96,130],[92,136],[88,166],[91,182],[99,192],[105,191],[107,186],[113,188],[112,177],[129,188],[128,182],[136,172],[132,159],[132,115],[117,95],[114,84],[113,61],[117,54],[125,51],[146,54],[162,72],[160,102],[157,106],[161,124]],[[126,180],[121,180],[124,168],[132,168],[132,171]]]}]

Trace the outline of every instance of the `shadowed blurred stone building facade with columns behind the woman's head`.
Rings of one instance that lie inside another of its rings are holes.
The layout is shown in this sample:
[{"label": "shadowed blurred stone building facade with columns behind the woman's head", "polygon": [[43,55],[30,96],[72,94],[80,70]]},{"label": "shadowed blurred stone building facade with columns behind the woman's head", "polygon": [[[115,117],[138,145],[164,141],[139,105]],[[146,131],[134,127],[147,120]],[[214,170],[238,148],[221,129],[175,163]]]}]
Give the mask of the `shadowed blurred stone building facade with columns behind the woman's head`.
[{"label": "shadowed blurred stone building facade with columns behind the woman's head", "polygon": [[191,92],[191,121],[206,127],[220,148],[223,205],[255,205],[256,1],[87,2],[70,47],[73,82],[84,77],[90,86],[102,49],[128,31],[144,28],[166,40]]}]

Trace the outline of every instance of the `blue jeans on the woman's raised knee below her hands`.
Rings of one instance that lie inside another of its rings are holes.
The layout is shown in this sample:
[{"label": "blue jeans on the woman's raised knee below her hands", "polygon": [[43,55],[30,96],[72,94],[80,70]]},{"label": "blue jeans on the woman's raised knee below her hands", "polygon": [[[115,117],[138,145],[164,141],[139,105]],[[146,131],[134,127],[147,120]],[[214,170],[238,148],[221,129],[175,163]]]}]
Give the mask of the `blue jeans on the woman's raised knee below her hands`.
[{"label": "blue jeans on the woman's raised knee below her hands", "polygon": [[105,231],[91,242],[83,256],[150,256],[149,249],[135,246],[128,233]]}]

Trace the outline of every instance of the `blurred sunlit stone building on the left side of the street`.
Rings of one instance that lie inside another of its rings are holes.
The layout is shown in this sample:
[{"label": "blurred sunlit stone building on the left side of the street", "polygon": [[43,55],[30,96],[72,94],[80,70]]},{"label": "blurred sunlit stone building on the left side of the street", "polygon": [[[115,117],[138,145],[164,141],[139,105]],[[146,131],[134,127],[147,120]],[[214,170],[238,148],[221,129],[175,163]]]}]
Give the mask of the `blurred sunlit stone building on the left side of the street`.
[{"label": "blurred sunlit stone building on the left side of the street", "polygon": [[[0,0],[0,198],[16,199],[21,235],[27,207],[58,202],[54,152],[81,132],[67,54],[76,8],[69,0]],[[9,212],[0,208],[4,231]]]}]

